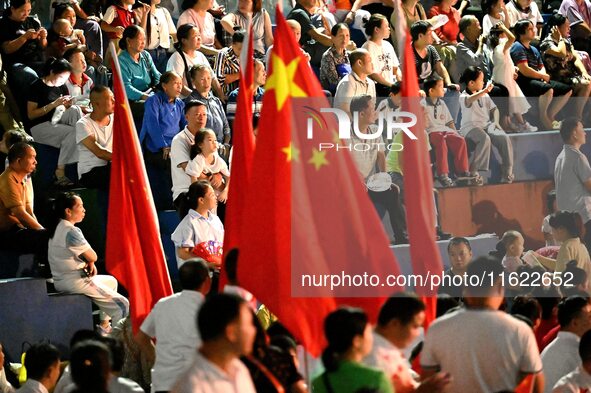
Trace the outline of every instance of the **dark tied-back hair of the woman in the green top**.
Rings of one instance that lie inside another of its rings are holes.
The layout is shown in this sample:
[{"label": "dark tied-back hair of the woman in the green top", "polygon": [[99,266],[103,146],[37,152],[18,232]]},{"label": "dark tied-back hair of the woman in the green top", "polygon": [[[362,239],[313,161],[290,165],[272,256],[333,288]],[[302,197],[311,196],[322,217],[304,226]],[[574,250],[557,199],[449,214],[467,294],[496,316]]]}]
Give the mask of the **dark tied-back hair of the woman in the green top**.
[{"label": "dark tied-back hair of the woman in the green top", "polygon": [[327,315],[324,335],[328,346],[322,352],[322,364],[327,372],[338,369],[341,355],[351,348],[356,336],[363,335],[367,324],[367,315],[360,308],[343,307]]}]

